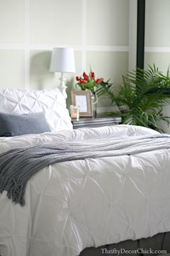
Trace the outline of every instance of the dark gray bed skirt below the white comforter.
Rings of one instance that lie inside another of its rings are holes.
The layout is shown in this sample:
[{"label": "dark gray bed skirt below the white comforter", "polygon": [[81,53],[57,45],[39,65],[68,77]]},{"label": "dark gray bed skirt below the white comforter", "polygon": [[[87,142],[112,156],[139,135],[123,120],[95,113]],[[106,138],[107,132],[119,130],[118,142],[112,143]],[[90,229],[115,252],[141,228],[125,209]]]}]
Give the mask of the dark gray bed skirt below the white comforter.
[{"label": "dark gray bed skirt below the white comforter", "polygon": [[[126,252],[127,251],[127,252]],[[79,256],[150,256],[170,252],[170,232],[156,234],[155,236],[138,240],[126,240],[117,244],[107,244],[102,247],[89,247]]]}]

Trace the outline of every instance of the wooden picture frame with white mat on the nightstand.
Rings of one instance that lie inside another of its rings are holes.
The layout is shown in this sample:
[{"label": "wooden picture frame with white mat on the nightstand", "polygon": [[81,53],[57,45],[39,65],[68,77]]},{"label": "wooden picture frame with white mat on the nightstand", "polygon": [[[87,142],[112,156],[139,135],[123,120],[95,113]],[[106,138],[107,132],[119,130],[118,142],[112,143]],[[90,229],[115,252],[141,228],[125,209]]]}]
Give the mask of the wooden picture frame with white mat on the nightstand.
[{"label": "wooden picture frame with white mat on the nightstand", "polygon": [[90,90],[72,90],[71,102],[80,107],[79,116],[92,116]]}]

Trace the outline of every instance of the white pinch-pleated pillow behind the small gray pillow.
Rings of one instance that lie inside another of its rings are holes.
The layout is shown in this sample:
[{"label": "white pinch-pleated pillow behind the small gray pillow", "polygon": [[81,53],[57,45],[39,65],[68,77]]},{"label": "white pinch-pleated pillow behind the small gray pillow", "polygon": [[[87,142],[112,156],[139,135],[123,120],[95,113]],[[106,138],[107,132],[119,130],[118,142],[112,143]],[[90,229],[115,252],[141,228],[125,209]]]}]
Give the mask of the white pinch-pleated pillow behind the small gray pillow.
[{"label": "white pinch-pleated pillow behind the small gray pillow", "polygon": [[0,90],[0,111],[12,114],[44,112],[51,132],[73,129],[66,100],[59,89]]}]

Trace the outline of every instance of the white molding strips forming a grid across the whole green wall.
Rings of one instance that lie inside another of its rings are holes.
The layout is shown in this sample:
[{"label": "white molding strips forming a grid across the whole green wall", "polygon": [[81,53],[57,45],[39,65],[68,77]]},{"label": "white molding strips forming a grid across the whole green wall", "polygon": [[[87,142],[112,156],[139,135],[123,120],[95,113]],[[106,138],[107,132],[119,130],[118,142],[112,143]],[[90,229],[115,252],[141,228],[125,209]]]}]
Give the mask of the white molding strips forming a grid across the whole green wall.
[{"label": "white molding strips forming a grid across the whole green wall", "polygon": [[[48,50],[52,51],[54,47],[72,47],[75,51],[81,51],[81,70],[86,70],[86,52],[87,51],[124,51],[129,53],[129,69],[133,69],[134,51],[133,38],[133,6],[134,0],[130,0],[129,5],[129,46],[89,46],[86,44],[86,0],[82,1],[81,16],[81,45],[46,45],[30,43],[30,0],[24,0],[24,43],[0,43],[0,50],[22,50],[24,51],[24,88],[30,88],[30,51]],[[146,52],[170,52],[170,47],[145,47]]]}]

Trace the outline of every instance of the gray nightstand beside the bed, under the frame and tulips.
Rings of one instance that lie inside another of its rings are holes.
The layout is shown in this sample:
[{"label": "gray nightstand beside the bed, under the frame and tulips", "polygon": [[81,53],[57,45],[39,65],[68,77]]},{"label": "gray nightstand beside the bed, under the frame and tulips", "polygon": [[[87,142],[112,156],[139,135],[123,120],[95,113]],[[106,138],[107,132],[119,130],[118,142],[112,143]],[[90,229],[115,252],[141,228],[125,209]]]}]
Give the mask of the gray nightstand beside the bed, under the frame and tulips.
[{"label": "gray nightstand beside the bed, under the frame and tulips", "polygon": [[79,121],[76,119],[71,119],[73,124],[73,129],[78,129],[82,127],[105,127],[115,124],[120,124],[122,121],[121,116],[104,116],[104,117],[80,117]]}]

